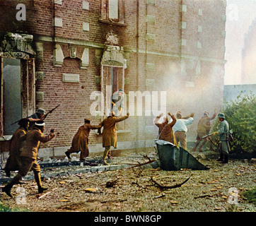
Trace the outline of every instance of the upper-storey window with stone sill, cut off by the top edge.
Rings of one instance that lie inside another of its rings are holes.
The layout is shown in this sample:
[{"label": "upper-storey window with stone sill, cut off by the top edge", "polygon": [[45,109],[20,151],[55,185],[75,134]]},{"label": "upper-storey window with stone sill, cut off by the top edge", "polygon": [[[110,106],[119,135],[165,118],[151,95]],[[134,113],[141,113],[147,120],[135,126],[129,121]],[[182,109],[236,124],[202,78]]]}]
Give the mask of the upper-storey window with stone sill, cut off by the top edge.
[{"label": "upper-storey window with stone sill, cut off by the top edge", "polygon": [[107,23],[124,24],[124,0],[102,0],[101,20]]}]

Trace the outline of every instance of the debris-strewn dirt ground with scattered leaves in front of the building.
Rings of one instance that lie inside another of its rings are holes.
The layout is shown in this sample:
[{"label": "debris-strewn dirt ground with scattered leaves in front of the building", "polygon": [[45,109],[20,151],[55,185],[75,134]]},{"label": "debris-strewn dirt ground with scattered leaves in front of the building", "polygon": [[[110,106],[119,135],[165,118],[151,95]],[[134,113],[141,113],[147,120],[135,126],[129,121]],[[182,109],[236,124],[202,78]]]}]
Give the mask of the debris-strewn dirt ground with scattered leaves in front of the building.
[{"label": "debris-strewn dirt ground with scattered leaves in front of the building", "polygon": [[[147,161],[139,155],[120,156],[114,157],[110,164],[136,163],[138,160]],[[30,180],[13,186],[13,199],[1,192],[1,202],[11,208],[32,212],[256,211],[256,207],[243,196],[244,191],[256,186],[255,163],[248,160],[230,160],[228,164],[216,160],[200,162],[210,169],[164,171],[153,169],[149,164],[115,171],[50,177],[42,181],[48,190],[41,196],[37,194],[35,181]],[[152,181],[152,177],[164,186],[190,179],[177,188],[162,189]],[[25,190],[17,190],[18,187]]]}]

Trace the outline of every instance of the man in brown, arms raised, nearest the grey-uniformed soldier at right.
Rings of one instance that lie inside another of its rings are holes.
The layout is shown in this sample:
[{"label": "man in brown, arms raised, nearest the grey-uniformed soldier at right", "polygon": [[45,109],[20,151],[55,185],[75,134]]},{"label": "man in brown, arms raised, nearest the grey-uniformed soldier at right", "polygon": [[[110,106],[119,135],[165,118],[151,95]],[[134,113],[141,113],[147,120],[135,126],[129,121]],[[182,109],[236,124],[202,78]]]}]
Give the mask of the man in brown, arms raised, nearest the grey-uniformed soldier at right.
[{"label": "man in brown, arms raised, nearest the grey-uniformed soldier at right", "polygon": [[[202,144],[199,146],[199,151],[202,151],[202,147],[204,144],[207,142],[206,139],[203,139],[203,136],[206,136],[209,134],[211,130],[211,120],[215,119],[216,117],[216,112],[212,115],[212,117],[209,117],[208,112],[204,112],[204,116],[199,120],[197,124],[197,143],[194,145],[194,148],[192,148],[192,151],[197,150],[197,146],[199,143],[202,141]],[[210,146],[210,150],[214,150],[212,146]]]}]

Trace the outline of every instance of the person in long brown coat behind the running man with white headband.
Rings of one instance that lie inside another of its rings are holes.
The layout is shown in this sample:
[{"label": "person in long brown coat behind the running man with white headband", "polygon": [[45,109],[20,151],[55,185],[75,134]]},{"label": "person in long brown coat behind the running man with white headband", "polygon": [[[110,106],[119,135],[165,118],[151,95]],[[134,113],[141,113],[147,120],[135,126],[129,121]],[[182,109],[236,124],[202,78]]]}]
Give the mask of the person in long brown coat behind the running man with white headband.
[{"label": "person in long brown coat behind the running man with white headband", "polygon": [[18,170],[21,167],[21,144],[25,140],[25,133],[28,132],[28,124],[28,119],[18,121],[20,127],[11,137],[9,157],[4,167],[7,177],[11,177],[11,171]]}]

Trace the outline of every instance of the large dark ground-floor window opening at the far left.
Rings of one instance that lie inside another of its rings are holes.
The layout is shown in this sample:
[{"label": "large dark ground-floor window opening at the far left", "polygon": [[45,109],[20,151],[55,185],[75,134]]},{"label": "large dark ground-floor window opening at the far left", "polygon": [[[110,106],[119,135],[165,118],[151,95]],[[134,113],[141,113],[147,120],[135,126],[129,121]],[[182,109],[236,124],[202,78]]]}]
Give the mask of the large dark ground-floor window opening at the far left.
[{"label": "large dark ground-floor window opening at the far left", "polygon": [[35,113],[35,60],[0,57],[0,62],[0,136],[5,136],[16,131],[13,122]]}]

